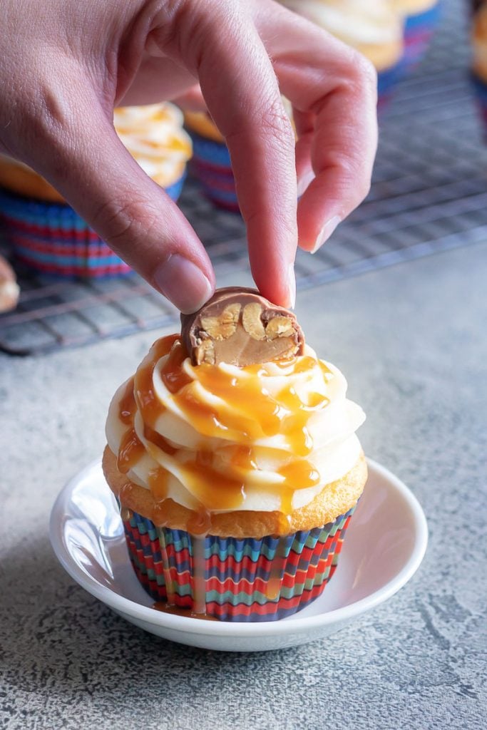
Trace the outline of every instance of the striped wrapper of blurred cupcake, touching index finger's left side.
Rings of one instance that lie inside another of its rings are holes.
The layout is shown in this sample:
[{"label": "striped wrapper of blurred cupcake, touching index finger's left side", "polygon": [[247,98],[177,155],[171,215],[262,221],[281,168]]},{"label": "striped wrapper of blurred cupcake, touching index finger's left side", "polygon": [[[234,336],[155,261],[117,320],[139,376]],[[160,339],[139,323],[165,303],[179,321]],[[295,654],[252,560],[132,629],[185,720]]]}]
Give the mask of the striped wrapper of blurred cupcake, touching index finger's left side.
[{"label": "striped wrapper of blurred cupcake, touching index finger's left side", "polygon": [[201,183],[204,195],[218,207],[239,212],[228,148],[223,142],[201,137],[191,129],[188,132],[193,140],[191,169]]}]

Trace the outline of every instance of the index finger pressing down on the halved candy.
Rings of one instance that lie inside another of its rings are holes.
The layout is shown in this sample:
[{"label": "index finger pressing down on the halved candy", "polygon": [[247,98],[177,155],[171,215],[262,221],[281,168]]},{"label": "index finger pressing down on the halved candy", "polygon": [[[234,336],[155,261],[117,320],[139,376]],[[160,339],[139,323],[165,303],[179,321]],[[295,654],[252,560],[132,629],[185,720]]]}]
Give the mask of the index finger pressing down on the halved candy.
[{"label": "index finger pressing down on the halved candy", "polygon": [[292,307],[294,133],[250,7],[234,1],[191,4],[172,37],[163,31],[169,39],[164,48],[199,78],[208,110],[226,139],[254,280],[268,299]]}]

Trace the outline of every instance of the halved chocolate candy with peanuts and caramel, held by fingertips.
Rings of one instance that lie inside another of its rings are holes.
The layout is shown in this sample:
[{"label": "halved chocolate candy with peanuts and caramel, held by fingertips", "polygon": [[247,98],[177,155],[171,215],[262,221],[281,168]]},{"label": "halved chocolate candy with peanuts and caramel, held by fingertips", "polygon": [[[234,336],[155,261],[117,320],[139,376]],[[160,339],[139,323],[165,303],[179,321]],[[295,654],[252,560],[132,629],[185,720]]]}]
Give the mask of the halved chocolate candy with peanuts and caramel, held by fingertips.
[{"label": "halved chocolate candy with peanuts and caramel, held by fingertips", "polygon": [[256,289],[218,289],[192,315],[181,315],[181,337],[193,365],[254,365],[302,355],[304,334],[293,312]]}]

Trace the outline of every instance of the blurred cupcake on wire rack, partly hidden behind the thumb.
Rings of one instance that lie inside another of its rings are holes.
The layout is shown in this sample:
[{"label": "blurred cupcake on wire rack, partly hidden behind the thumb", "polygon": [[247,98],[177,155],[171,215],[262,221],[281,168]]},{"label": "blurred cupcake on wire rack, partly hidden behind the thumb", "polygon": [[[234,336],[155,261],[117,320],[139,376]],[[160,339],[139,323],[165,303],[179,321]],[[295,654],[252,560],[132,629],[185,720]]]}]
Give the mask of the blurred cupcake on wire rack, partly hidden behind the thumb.
[{"label": "blurred cupcake on wire rack, partly hidden behind the thumb", "polygon": [[[180,194],[191,139],[172,104],[115,110],[115,129],[142,169],[172,199]],[[26,165],[0,155],[0,223],[15,255],[55,277],[131,272],[61,195]]]}]

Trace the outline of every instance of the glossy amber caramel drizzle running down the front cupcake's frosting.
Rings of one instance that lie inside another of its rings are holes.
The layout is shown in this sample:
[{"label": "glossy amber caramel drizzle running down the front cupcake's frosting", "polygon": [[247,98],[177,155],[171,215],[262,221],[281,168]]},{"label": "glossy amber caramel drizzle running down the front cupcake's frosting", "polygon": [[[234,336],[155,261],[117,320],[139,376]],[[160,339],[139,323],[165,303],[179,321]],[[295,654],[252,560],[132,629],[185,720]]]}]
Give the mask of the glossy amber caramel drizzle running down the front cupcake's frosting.
[{"label": "glossy amber caramel drizzle running down the front cupcake's frosting", "polygon": [[[156,431],[156,422],[164,412],[164,404],[154,391],[153,373],[158,361],[168,354],[161,366],[161,379],[188,422],[206,437],[237,442],[237,445],[229,445],[234,453],[229,459],[228,468],[222,470],[221,464],[215,464],[215,454],[204,450],[199,450],[188,461],[187,450],[177,449]],[[258,447],[254,449],[252,443],[283,434],[291,448],[291,455],[288,463],[277,470],[277,474],[283,477],[280,483],[266,487],[280,495],[280,511],[289,515],[296,489],[312,487],[319,482],[317,470],[306,459],[312,451],[307,421],[312,412],[326,406],[328,399],[321,393],[310,393],[305,404],[293,385],[285,386],[276,396],[271,396],[265,386],[268,373],[261,365],[246,367],[248,377],[237,378],[231,372],[203,364],[197,368],[196,382],[221,401],[217,405],[207,404],[195,390],[195,380],[183,370],[185,358],[187,353],[177,335],[164,337],[153,345],[134,379],[128,383],[126,393],[120,400],[119,415],[120,421],[131,428],[120,443],[118,469],[123,473],[128,472],[145,453],[145,446],[133,426],[138,407],[145,424],[144,438],[149,453],[157,458],[156,451],[152,449],[155,447],[169,458],[174,458],[181,480],[207,510],[231,510],[239,507],[245,499],[246,473],[257,468]],[[291,358],[274,365],[282,369],[291,367],[296,374],[309,371],[316,366],[316,361],[310,357],[299,360]],[[329,369],[321,362],[319,366],[328,380]],[[154,517],[161,520],[158,524],[164,521],[163,503],[167,496],[168,478],[169,472],[164,466],[154,469],[149,475],[150,490],[157,505],[155,512],[158,512]],[[203,526],[209,524],[209,518],[202,515],[204,512],[199,512],[193,520],[191,526],[194,534],[203,534]]]}]

